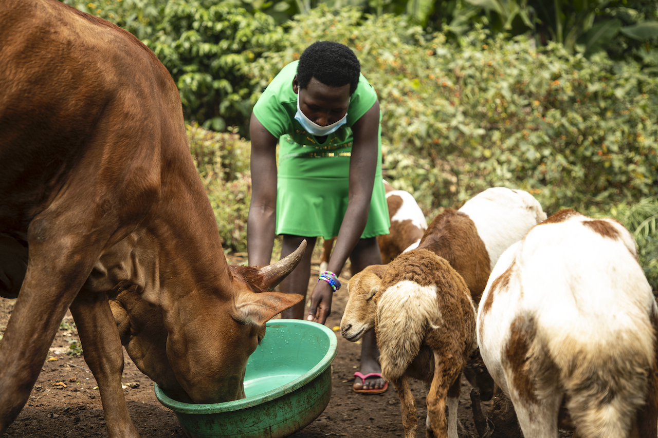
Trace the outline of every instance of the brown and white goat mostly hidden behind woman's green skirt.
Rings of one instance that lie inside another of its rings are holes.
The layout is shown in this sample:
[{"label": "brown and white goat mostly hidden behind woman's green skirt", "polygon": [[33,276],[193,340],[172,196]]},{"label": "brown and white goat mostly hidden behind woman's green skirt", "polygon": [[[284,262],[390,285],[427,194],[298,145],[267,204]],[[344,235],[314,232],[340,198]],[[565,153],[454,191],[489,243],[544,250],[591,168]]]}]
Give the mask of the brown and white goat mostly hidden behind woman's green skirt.
[{"label": "brown and white goat mostly hidden behind woman's green skirt", "polygon": [[[427,229],[427,220],[411,193],[397,190],[386,181],[384,181],[384,190],[391,228],[388,234],[377,236],[377,243],[382,255],[382,263],[387,264],[403,251],[409,251],[418,245]],[[320,272],[327,268],[334,241],[336,237],[324,241]]]}]

